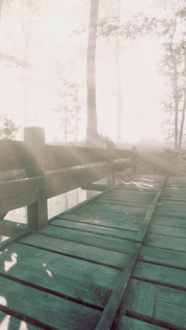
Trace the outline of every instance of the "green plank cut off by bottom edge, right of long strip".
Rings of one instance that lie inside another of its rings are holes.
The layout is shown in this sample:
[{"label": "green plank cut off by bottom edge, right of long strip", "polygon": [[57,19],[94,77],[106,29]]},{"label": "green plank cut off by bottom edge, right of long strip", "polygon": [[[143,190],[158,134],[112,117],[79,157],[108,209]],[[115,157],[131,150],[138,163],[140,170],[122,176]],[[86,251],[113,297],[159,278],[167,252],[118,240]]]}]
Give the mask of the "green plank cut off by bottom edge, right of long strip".
[{"label": "green plank cut off by bottom edge, right of long strip", "polygon": [[149,324],[139,319],[132,319],[131,317],[120,317],[117,324],[116,330],[164,330],[161,326]]}]

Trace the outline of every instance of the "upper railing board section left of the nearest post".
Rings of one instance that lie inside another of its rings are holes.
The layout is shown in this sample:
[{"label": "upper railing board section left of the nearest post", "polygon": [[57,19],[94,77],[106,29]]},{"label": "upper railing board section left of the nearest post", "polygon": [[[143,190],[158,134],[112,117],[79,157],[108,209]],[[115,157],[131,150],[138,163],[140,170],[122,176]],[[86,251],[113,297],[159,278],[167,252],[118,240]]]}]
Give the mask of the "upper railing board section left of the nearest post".
[{"label": "upper railing board section left of the nearest post", "polygon": [[30,163],[30,154],[23,141],[0,140],[0,171],[23,169]]}]

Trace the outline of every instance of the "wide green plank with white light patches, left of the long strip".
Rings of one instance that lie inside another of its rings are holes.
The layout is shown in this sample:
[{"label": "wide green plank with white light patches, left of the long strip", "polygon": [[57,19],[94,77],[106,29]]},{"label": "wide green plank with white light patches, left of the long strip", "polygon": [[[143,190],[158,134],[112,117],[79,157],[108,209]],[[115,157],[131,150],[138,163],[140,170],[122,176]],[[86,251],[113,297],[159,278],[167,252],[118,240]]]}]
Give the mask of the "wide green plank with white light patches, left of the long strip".
[{"label": "wide green plank with white light patches, left of the long strip", "polygon": [[25,246],[23,251],[21,245],[13,244],[6,250],[0,260],[0,274],[98,307],[106,305],[119,273],[116,269],[35,247]]}]

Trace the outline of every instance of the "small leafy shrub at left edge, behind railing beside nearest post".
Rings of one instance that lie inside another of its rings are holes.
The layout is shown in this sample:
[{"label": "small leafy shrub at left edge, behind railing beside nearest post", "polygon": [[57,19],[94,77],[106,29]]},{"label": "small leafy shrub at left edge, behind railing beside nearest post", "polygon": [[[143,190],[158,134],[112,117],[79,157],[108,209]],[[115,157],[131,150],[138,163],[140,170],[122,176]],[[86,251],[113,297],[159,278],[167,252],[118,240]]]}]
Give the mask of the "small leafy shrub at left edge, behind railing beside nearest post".
[{"label": "small leafy shrub at left edge, behind railing beside nearest post", "polygon": [[0,138],[1,139],[15,139],[20,126],[16,126],[11,118],[5,114],[1,116]]}]

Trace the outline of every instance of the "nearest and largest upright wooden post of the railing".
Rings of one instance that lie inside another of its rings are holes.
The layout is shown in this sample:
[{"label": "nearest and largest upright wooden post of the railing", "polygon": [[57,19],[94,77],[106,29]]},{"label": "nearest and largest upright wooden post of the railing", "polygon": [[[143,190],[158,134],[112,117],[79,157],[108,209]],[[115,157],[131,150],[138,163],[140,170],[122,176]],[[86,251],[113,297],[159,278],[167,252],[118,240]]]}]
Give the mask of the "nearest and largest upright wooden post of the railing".
[{"label": "nearest and largest upright wooden post of the railing", "polygon": [[44,128],[25,128],[24,140],[27,151],[31,156],[31,164],[28,164],[25,169],[27,177],[43,177],[43,185],[40,188],[41,194],[39,200],[27,206],[27,224],[31,231],[41,231],[47,226],[48,223],[46,185],[44,176]]}]

